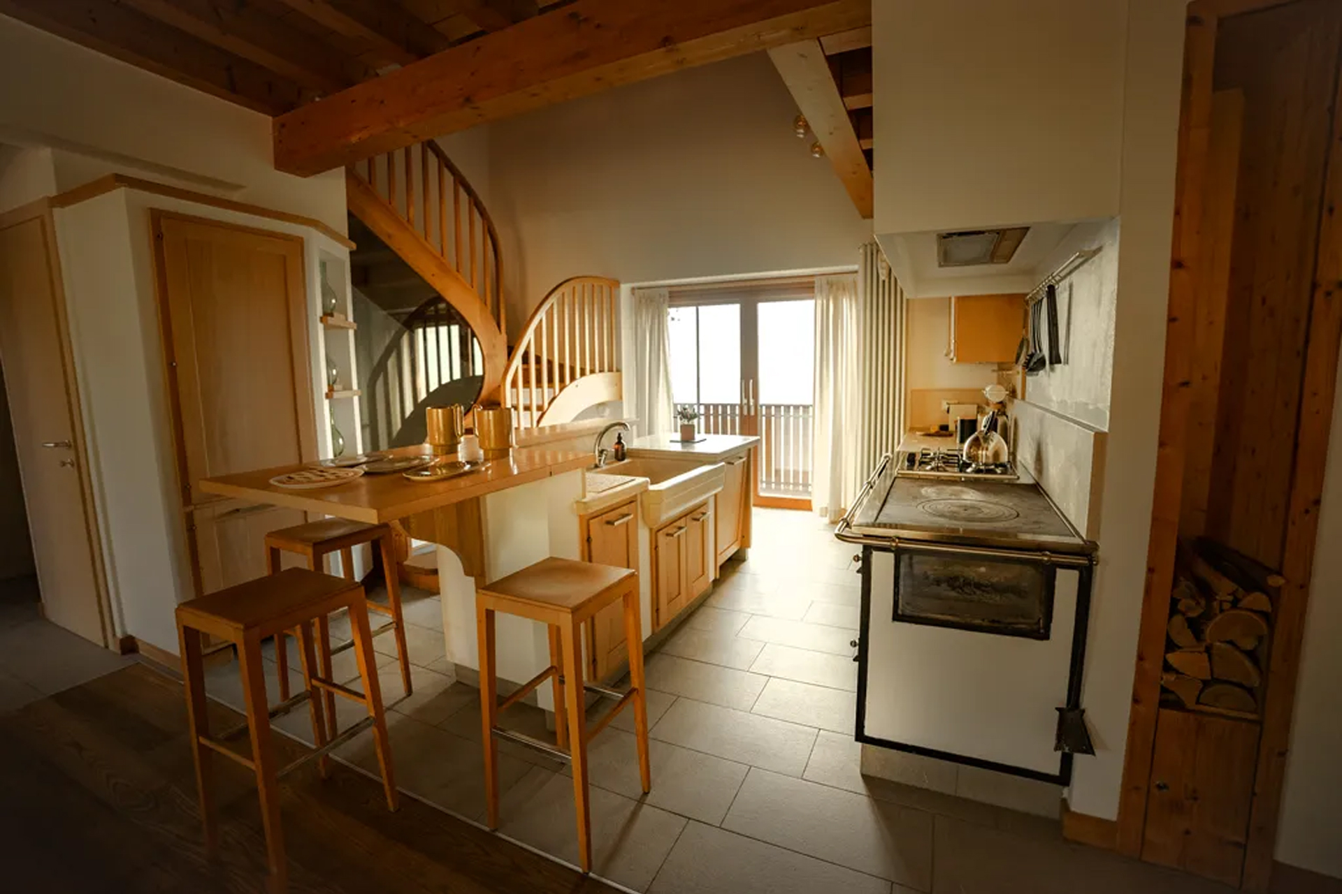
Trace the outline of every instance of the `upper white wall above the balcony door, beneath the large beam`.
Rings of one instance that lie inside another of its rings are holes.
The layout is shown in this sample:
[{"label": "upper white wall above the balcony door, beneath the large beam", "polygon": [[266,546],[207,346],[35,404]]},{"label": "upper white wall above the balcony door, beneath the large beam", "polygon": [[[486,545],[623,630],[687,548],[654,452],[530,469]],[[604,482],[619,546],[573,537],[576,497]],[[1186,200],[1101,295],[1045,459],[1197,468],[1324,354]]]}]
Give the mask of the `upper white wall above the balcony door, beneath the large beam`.
[{"label": "upper white wall above the balcony door, beneath the large beam", "polygon": [[503,243],[509,328],[561,280],[851,265],[871,237],[792,133],[765,54],[690,68],[444,141]]}]

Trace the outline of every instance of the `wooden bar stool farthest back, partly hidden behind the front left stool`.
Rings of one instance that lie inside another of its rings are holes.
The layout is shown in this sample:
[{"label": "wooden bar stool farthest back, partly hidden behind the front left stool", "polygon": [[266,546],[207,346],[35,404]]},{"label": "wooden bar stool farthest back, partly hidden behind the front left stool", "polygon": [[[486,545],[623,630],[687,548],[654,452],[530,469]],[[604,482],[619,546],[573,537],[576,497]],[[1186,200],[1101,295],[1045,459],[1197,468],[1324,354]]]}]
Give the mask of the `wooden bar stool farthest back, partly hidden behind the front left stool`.
[{"label": "wooden bar stool farthest back, partly hidden behind the front left stool", "polygon": [[[396,574],[396,547],[392,537],[392,528],[386,524],[364,524],[349,519],[322,519],[297,524],[291,528],[280,528],[266,535],[266,571],[275,574],[279,571],[280,551],[297,552],[307,558],[307,567],[313,571],[325,571],[325,558],[338,552],[345,576],[354,579],[354,547],[377,540],[382,552],[382,575],[386,578],[386,604],[369,602],[368,607],[384,615],[391,615],[391,622],[373,631],[373,635],[384,634],[388,630],[396,634],[396,654],[401,661],[401,685],[405,694],[411,694],[411,657],[405,649],[405,618],[401,615],[401,582]],[[285,633],[275,635],[275,661],[279,663],[279,697],[289,698],[289,650],[283,643]],[[331,674],[331,658],[353,647],[353,641],[344,642],[334,649],[330,645],[330,625],[322,615],[317,621],[318,659],[322,674]],[[327,722],[331,735],[336,735],[336,698],[326,693]]]}]

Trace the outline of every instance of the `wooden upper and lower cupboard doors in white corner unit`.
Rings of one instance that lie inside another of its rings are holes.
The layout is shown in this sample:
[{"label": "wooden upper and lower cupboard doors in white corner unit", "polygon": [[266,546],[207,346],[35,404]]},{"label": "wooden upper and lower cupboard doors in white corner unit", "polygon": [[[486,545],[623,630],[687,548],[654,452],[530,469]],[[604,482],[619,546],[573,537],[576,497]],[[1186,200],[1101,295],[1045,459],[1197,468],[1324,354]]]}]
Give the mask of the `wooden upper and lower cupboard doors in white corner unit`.
[{"label": "wooden upper and lower cupboard doors in white corner unit", "polygon": [[153,228],[183,509],[193,574],[209,592],[263,570],[232,537],[254,536],[259,559],[255,523],[278,516],[258,511],[244,525],[234,509],[203,513],[220,497],[197,483],[317,456],[303,241],[162,212]]}]

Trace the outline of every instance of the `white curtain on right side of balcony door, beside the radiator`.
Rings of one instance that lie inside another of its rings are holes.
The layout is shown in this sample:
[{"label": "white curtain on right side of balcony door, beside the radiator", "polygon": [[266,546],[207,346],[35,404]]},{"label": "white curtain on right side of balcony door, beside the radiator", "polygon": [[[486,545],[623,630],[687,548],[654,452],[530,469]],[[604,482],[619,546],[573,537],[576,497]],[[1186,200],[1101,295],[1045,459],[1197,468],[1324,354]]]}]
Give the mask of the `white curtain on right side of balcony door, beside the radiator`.
[{"label": "white curtain on right side of balcony door, beside the radiator", "polygon": [[816,277],[816,434],[811,505],[837,521],[858,491],[858,277]]}]

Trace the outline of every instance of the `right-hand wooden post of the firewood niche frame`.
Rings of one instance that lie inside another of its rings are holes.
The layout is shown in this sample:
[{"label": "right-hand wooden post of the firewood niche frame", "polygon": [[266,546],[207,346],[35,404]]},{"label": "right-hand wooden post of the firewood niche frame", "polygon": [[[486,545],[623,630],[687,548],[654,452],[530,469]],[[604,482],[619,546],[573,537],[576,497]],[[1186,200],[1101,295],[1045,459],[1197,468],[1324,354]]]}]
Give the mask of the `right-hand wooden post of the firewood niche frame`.
[{"label": "right-hand wooden post of the firewood niche frame", "polygon": [[[1266,893],[1271,885],[1272,851],[1280,814],[1282,784],[1295,708],[1304,614],[1310,576],[1318,547],[1319,495],[1327,465],[1329,432],[1337,391],[1338,355],[1342,347],[1342,86],[1333,88],[1330,139],[1323,213],[1318,233],[1312,302],[1304,346],[1304,378],[1300,390],[1299,445],[1286,516],[1282,550],[1280,604],[1275,613],[1272,658],[1263,712],[1263,740],[1244,865],[1244,887]],[[1331,544],[1335,546],[1335,544]]]}]

